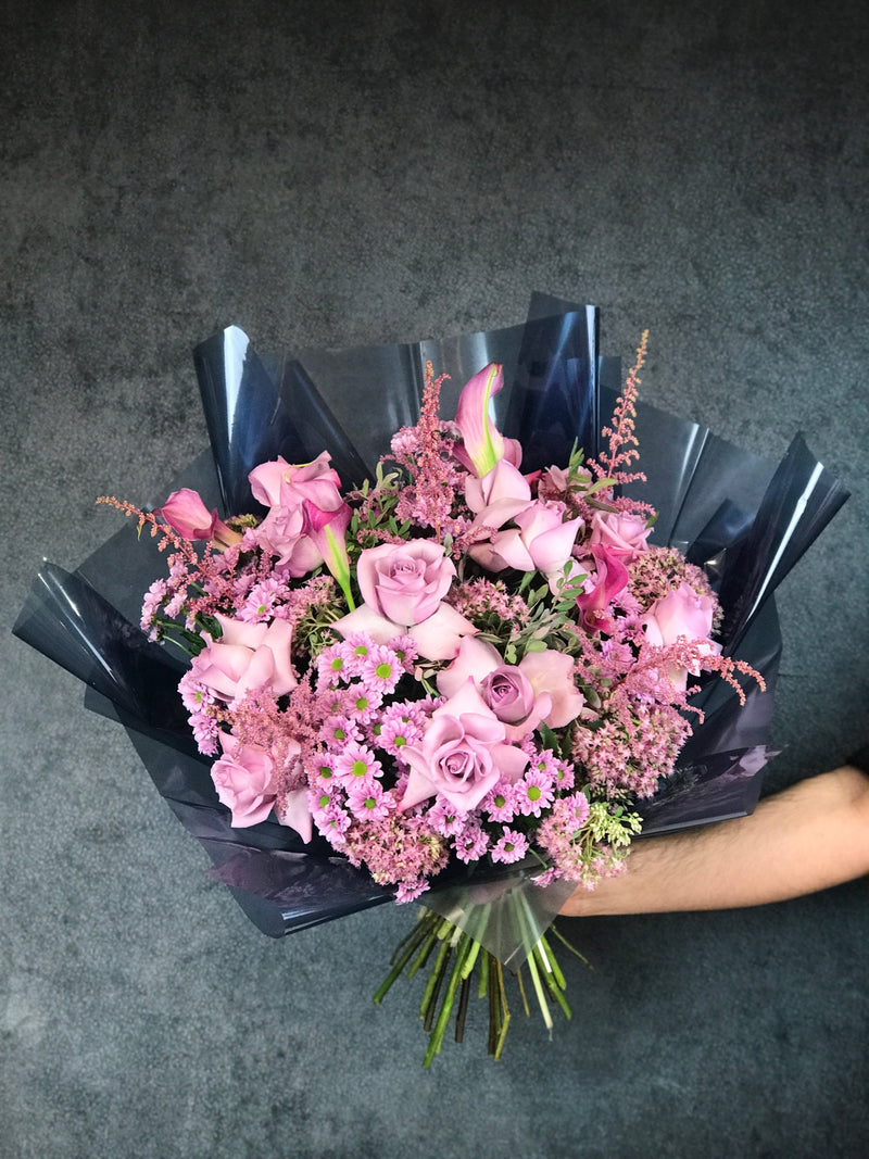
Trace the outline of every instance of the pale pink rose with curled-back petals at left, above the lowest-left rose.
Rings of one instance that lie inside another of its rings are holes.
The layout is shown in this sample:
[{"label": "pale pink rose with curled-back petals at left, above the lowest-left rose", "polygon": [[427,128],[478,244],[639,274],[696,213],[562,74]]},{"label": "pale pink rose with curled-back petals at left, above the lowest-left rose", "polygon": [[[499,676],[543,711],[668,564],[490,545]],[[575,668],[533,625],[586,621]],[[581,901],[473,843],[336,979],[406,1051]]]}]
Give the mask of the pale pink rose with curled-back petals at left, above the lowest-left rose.
[{"label": "pale pink rose with curled-back petals at left, above the lowest-left rose", "polygon": [[220,614],[217,620],[222,635],[193,658],[193,679],[227,702],[265,685],[275,697],[295,687],[290,657],[293,632],[286,620],[243,624]]}]

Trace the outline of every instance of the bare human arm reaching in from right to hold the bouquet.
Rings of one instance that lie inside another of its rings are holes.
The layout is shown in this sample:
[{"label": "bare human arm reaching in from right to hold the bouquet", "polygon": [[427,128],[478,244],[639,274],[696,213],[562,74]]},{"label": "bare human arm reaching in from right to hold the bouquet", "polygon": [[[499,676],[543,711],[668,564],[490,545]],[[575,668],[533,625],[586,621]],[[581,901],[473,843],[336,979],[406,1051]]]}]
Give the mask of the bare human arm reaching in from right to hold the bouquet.
[{"label": "bare human arm reaching in from right to hold the bouquet", "polygon": [[626,870],[576,889],[567,917],[783,902],[869,873],[869,775],[844,765],[737,821],[637,840]]}]

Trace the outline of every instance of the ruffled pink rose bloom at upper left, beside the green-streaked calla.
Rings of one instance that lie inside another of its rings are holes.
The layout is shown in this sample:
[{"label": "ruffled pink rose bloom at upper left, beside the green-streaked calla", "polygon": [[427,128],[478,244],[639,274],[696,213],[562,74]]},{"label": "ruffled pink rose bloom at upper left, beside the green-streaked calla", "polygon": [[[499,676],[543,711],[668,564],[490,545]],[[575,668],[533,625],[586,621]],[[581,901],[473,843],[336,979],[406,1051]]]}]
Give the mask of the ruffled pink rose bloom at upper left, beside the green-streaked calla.
[{"label": "ruffled pink rose bloom at upper left, beside the green-streaked calla", "polygon": [[248,479],[254,498],[270,509],[256,529],[257,541],[286,566],[293,578],[324,562],[328,526],[343,541],[350,510],[341,496],[338,474],[329,467],[327,451],[301,466],[282,458],[263,462]]}]

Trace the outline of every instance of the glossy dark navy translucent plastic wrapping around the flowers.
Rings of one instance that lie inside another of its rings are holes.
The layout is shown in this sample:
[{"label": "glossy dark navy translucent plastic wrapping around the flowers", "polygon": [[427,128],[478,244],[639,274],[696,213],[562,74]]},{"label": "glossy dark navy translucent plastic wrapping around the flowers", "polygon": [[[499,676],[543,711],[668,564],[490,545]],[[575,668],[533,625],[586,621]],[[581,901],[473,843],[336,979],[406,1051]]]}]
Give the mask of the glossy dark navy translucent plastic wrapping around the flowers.
[{"label": "glossy dark navy translucent plastic wrapping around the flowers", "polygon": [[[247,479],[254,466],[277,454],[308,461],[324,449],[345,486],[360,482],[392,435],[416,422],[426,362],[451,376],[441,391],[441,415],[450,418],[462,385],[492,360],[504,364],[506,384],[496,417],[505,433],[521,436],[526,469],[565,461],[575,442],[597,452],[600,416],[612,413],[620,388],[619,363],[599,355],[593,307],[535,294],[523,326],[386,347],[261,356],[242,330],[229,327],[195,351],[211,451],[167,481],[166,493],[192,487],[222,515],[255,511]],[[725,650],[767,681],[765,693],[748,690],[743,708],[723,681],[704,681],[696,695],[704,723],[677,773],[641,802],[644,836],[652,836],[744,815],[757,803],[780,655],[771,597],[847,493],[801,438],[774,469],[642,403],[637,436],[648,475],[638,494],[659,511],[655,541],[674,544],[707,567],[725,610]],[[147,538],[139,540],[127,525],[72,574],[46,563],[15,634],[87,685],[88,708],[124,726],[158,790],[206,850],[211,874],[264,933],[279,936],[390,899],[390,889],[322,839],[304,845],[275,821],[231,828],[176,693],[183,668],[137,626],[143,593],[163,567]],[[487,945],[507,961],[514,928],[505,919],[502,939],[496,917],[498,896],[511,891],[502,880],[479,892],[504,876],[475,872],[470,895],[468,872],[451,867],[423,901],[450,916],[463,912],[461,920],[472,926],[480,906],[496,911],[495,947]],[[523,905],[526,895],[538,895],[530,904],[545,928],[560,891],[512,884]]]}]

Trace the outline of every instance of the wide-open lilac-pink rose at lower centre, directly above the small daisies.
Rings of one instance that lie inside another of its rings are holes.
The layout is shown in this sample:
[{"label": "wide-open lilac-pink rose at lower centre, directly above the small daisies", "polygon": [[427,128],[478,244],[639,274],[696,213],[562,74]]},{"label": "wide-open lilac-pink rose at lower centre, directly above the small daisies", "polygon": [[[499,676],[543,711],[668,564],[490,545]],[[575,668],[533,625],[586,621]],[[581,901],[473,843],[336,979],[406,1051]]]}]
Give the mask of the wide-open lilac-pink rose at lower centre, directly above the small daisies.
[{"label": "wide-open lilac-pink rose at lower centre, directly above the small daisies", "polygon": [[501,778],[514,783],[530,758],[521,749],[506,744],[505,736],[504,724],[468,680],[434,710],[422,742],[401,750],[410,766],[401,808],[438,796],[466,814]]}]

